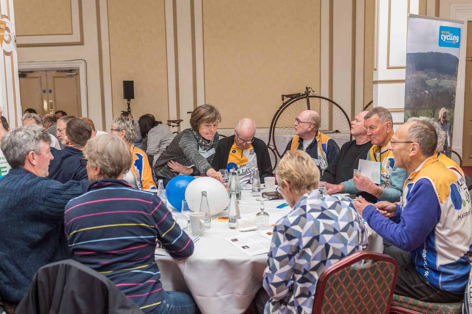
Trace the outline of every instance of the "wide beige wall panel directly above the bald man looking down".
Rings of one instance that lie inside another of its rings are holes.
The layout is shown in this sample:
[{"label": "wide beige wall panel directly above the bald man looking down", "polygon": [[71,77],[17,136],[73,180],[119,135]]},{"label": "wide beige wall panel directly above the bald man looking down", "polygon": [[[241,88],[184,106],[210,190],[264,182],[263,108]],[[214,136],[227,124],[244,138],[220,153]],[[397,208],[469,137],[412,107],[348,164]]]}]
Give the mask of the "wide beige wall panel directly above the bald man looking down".
[{"label": "wide beige wall panel directly above the bald man looking down", "polygon": [[[205,100],[222,128],[269,128],[280,95],[320,90],[320,1],[203,1]],[[229,8],[229,9],[228,9]]]}]

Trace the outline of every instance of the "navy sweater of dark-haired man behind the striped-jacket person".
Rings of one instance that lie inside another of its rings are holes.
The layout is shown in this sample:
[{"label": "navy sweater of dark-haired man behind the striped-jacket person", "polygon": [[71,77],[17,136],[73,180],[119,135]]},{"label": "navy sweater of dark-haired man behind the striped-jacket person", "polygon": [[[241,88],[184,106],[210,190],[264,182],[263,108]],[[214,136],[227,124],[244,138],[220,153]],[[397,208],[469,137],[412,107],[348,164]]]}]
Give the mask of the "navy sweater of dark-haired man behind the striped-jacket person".
[{"label": "navy sweater of dark-haired man behind the striped-jacket person", "polygon": [[84,154],[80,149],[66,146],[64,149],[51,147],[51,154],[54,157],[49,163],[48,178],[66,183],[71,180],[88,180],[87,169],[80,164],[80,159]]}]

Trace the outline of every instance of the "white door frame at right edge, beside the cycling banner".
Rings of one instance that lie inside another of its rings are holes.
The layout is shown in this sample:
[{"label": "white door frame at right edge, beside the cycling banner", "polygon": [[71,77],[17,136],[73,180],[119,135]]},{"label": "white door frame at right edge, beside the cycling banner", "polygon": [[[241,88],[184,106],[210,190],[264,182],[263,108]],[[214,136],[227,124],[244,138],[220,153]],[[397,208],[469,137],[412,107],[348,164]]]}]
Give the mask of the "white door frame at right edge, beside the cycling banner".
[{"label": "white door frame at right edge, beside the cycling banner", "polygon": [[[467,48],[467,22],[472,21],[472,4],[451,4],[450,18],[465,21],[462,31],[462,46],[457,69],[457,86],[455,89],[454,135],[452,149],[462,156],[462,139],[464,136],[464,96],[465,96],[465,50]],[[458,119],[459,118],[459,119]]]}]

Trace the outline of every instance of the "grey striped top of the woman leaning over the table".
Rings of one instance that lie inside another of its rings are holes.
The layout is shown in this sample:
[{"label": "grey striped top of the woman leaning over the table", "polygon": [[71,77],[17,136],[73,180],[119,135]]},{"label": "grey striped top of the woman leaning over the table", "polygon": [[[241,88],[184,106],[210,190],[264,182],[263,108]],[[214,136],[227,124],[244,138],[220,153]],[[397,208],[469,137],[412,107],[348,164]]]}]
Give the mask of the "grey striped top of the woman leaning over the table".
[{"label": "grey striped top of the woman leaning over the table", "polygon": [[167,165],[169,160],[177,161],[186,167],[194,165],[192,167],[194,169],[194,175],[199,173],[206,174],[206,172],[212,168],[211,161],[213,161],[215,154],[205,158],[199,153],[199,144],[200,148],[204,151],[211,150],[212,148],[216,150],[219,134],[216,132],[211,140],[204,139],[198,133],[197,137],[195,137],[192,128],[185,129],[177,134],[169,146],[167,146],[164,153],[161,153],[159,159],[155,162],[154,170],[156,174],[169,179],[178,176],[178,173],[171,171]]}]

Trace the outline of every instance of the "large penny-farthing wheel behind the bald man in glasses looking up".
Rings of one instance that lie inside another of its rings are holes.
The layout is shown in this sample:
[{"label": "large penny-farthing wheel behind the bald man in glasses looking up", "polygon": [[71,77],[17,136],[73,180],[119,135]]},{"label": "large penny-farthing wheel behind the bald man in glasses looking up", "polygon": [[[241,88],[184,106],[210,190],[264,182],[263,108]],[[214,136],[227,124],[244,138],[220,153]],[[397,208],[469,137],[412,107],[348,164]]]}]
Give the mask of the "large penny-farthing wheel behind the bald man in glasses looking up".
[{"label": "large penny-farthing wheel behind the bald man in glasses looking up", "polygon": [[276,113],[270,132],[278,157],[284,153],[288,142],[294,137],[295,118],[303,110],[314,110],[320,114],[320,131],[332,137],[339,147],[352,139],[351,121],[340,105],[326,97],[302,95],[290,100]]}]

